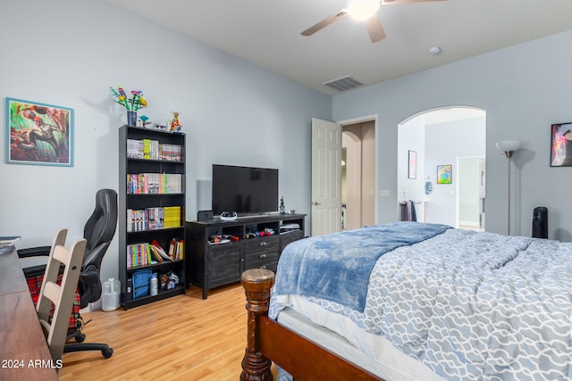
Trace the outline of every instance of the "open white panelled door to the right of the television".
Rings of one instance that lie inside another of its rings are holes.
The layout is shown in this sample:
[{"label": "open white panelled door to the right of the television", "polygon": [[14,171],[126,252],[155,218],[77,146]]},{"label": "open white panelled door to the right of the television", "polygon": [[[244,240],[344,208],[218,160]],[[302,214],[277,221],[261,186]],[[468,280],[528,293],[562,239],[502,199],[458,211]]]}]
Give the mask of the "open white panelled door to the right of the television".
[{"label": "open white panelled door to the right of the television", "polygon": [[341,125],[312,119],[312,236],[341,230]]}]

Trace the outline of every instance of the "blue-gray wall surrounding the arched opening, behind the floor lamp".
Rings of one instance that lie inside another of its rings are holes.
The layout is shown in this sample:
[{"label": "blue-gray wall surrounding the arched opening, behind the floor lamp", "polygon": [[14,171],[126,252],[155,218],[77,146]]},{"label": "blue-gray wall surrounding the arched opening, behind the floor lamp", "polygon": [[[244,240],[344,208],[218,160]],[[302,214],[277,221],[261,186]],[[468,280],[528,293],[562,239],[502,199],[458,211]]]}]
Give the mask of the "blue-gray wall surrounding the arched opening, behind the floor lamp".
[{"label": "blue-gray wall surrounding the arched opening, behind the floor lamp", "polygon": [[486,111],[486,229],[507,232],[507,162],[495,142],[521,139],[513,156],[512,234],[530,236],[532,211],[549,210],[549,237],[572,240],[565,200],[572,168],[550,168],[550,126],[572,120],[572,32],[564,32],[333,97],[332,120],[377,114],[377,221],[397,219],[398,125],[419,112],[450,105]]}]

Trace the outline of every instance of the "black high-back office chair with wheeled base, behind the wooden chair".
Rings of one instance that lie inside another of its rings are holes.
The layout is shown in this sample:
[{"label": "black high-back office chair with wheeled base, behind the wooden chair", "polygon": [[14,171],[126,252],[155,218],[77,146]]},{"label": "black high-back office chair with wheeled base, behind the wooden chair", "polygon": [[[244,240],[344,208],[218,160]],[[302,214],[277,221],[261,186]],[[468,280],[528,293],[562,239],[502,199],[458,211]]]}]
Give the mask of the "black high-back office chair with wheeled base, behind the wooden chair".
[{"label": "black high-back office chair with wheeled base, behind the wooden chair", "polygon": [[[87,307],[90,302],[97,302],[101,297],[102,286],[99,274],[101,261],[103,261],[105,252],[115,235],[116,227],[117,193],[113,189],[100,189],[96,194],[96,208],[83,229],[83,237],[87,240],[87,247],[78,285],[81,308]],[[18,250],[22,269],[27,278],[44,275],[46,265],[38,263],[38,257],[46,257],[49,252],[50,246]],[[81,333],[81,325],[80,319],[80,327],[74,332],[68,333],[68,339],[75,338],[78,343],[65,344],[63,352],[101,351],[105,359],[110,358],[114,350],[107,344],[82,343],[85,340],[85,335]]]}]

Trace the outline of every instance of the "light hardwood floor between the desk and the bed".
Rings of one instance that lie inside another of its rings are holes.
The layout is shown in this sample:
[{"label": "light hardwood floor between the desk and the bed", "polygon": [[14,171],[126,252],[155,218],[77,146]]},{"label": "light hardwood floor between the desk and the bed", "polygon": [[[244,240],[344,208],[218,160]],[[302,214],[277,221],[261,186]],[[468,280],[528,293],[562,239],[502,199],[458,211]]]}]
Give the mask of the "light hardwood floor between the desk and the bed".
[{"label": "light hardwood floor between the desk and the bed", "polygon": [[185,295],[123,311],[93,311],[86,343],[114,348],[63,354],[61,380],[237,380],[247,340],[247,312],[240,283],[209,291],[192,286]]}]

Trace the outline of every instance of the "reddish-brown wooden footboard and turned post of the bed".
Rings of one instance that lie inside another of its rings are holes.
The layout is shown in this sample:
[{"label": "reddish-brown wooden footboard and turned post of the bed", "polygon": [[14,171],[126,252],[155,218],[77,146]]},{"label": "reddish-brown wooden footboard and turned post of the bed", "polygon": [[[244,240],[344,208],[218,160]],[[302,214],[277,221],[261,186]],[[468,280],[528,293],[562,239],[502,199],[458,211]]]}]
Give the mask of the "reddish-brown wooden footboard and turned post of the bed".
[{"label": "reddish-brown wooden footboard and turned post of the bed", "polygon": [[302,381],[381,379],[269,319],[273,283],[274,273],[269,269],[248,269],[242,273],[248,334],[240,380],[272,381],[272,361]]}]

